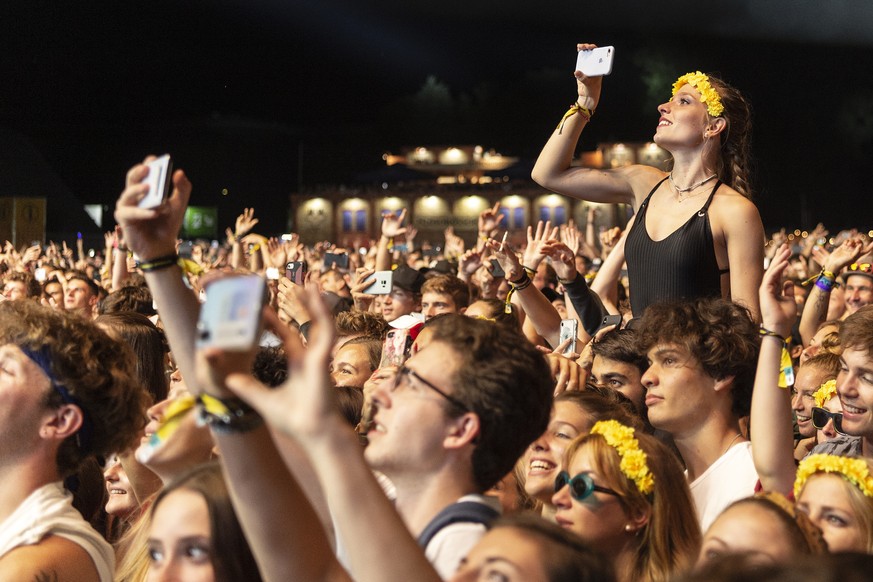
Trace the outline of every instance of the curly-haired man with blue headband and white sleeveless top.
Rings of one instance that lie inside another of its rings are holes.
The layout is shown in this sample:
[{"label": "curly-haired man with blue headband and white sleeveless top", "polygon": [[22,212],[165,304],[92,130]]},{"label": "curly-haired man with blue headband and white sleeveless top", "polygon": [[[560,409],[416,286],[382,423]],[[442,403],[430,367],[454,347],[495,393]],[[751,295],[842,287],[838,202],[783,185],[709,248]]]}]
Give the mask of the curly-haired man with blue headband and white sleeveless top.
[{"label": "curly-haired man with blue headband and white sleeveless top", "polygon": [[62,480],[139,437],[147,396],[133,354],[91,322],[0,303],[0,572],[4,580],[112,580],[111,546]]}]

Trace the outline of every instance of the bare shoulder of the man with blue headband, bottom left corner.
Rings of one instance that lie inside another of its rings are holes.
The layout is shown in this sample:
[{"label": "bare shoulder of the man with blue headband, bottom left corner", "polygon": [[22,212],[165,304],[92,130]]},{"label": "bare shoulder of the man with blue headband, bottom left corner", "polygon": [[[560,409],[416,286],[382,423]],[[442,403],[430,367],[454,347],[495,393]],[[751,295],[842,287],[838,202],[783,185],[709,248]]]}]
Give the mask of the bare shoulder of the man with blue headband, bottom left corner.
[{"label": "bare shoulder of the man with blue headband, bottom left corner", "polygon": [[91,556],[58,536],[19,546],[0,558],[0,582],[100,582]]}]

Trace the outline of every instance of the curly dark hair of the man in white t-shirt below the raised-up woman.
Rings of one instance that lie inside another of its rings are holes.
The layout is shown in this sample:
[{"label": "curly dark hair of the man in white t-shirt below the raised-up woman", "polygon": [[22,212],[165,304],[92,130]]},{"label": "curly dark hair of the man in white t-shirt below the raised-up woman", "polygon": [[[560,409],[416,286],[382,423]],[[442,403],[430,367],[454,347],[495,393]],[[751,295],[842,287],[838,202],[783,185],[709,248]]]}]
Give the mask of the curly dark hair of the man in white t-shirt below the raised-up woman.
[{"label": "curly dark hair of the man in white t-shirt below the raised-up woman", "polygon": [[638,328],[639,349],[659,344],[685,348],[717,380],[733,376],[732,410],[746,416],[761,344],[749,310],[721,298],[664,301],[650,305]]}]

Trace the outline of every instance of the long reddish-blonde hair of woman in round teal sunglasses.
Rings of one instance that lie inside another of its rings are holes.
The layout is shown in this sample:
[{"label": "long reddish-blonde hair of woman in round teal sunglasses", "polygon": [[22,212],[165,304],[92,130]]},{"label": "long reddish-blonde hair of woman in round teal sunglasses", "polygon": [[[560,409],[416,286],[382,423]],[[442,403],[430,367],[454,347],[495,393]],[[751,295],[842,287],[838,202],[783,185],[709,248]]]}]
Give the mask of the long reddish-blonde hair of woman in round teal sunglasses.
[{"label": "long reddish-blonde hair of woman in round teal sunglasses", "polygon": [[678,459],[656,438],[636,431],[634,437],[646,453],[646,464],[652,473],[654,489],[643,495],[636,483],[621,470],[621,457],[599,434],[577,437],[564,460],[569,467],[581,450],[591,460],[606,487],[618,493],[618,499],[628,514],[645,513],[647,523],[639,530],[639,543],[634,550],[631,580],[662,581],[684,571],[694,563],[700,550],[700,526],[688,482]]}]

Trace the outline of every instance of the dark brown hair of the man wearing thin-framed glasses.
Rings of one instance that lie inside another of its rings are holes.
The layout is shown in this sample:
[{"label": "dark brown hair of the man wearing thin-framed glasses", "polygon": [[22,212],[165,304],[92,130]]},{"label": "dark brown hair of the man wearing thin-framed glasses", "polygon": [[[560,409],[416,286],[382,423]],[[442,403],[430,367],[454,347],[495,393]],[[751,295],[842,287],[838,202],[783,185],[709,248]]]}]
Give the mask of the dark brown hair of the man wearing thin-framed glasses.
[{"label": "dark brown hair of the man wearing thin-framed glasses", "polygon": [[521,334],[501,325],[446,314],[429,327],[432,341],[449,346],[458,358],[453,396],[479,417],[473,478],[486,491],[546,430],[554,390],[549,365]]}]

